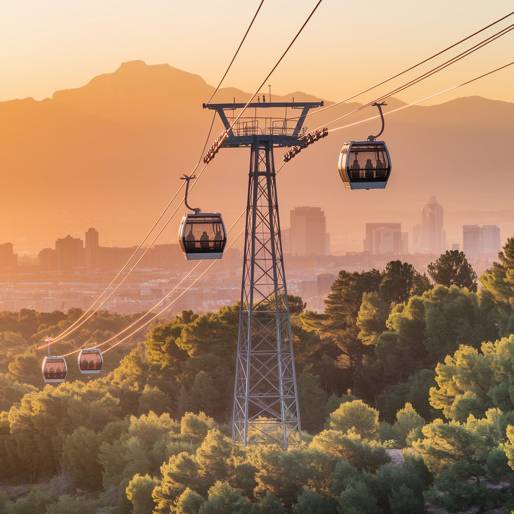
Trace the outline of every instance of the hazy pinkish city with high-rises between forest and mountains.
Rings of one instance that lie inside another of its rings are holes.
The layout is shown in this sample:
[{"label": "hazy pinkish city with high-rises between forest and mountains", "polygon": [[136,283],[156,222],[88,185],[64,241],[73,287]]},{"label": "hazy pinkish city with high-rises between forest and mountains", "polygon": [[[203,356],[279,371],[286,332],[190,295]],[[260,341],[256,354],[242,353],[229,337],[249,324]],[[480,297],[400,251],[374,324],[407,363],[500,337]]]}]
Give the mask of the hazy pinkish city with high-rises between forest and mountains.
[{"label": "hazy pinkish city with high-rises between forest and mountains", "polygon": [[[291,210],[289,226],[281,229],[289,292],[300,295],[307,308],[322,311],[323,300],[342,268],[383,269],[387,262],[401,258],[424,273],[428,264],[445,250],[462,249],[480,276],[501,249],[500,228],[496,225],[463,225],[462,242],[447,241],[444,207],[435,196],[420,209],[419,221],[412,229],[396,222],[366,223],[362,251],[333,255],[322,207],[302,206]],[[228,250],[216,264],[216,273],[207,274],[201,283],[188,289],[204,268],[179,285],[183,273],[192,266],[183,258],[178,243],[154,245],[144,253],[145,249],[138,250],[137,246],[101,246],[99,235],[91,227],[83,239],[70,235],[58,237],[54,248],[42,248],[38,254],[24,255],[23,259],[19,259],[11,243],[0,244],[3,289],[0,309],[31,308],[43,312],[71,307],[87,309],[129,260],[127,270],[140,262],[130,280],[103,308],[133,313],[173,302],[168,310],[176,314],[183,309],[217,310],[240,299],[240,249]],[[174,288],[167,300],[159,302]]]}]

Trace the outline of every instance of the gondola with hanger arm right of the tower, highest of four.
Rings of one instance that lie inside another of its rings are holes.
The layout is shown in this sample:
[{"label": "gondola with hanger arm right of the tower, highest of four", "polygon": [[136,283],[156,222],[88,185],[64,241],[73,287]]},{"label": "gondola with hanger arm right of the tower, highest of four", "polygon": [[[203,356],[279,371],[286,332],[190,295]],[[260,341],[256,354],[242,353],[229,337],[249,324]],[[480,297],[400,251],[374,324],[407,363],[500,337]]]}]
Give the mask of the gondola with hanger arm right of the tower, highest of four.
[{"label": "gondola with hanger arm right of the tower, highest of four", "polygon": [[384,130],[382,105],[378,107],[382,130],[367,141],[348,141],[339,155],[339,174],[346,189],[384,189],[391,174],[391,157],[384,141],[376,141]]}]

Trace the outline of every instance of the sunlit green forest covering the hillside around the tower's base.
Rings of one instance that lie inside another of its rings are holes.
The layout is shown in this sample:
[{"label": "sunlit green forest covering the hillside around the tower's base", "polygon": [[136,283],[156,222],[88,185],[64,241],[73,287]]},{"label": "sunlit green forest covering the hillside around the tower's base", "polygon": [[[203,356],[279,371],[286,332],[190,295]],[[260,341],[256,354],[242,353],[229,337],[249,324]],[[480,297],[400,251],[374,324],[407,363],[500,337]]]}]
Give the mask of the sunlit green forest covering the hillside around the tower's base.
[{"label": "sunlit green forest covering the hillside around the tower's base", "polygon": [[[238,304],[160,319],[58,386],[37,348],[82,311],[1,312],[0,512],[514,509],[514,237],[480,278],[447,251],[428,275],[341,270],[325,304],[289,297],[302,444],[288,451],[231,442]],[[59,352],[138,317],[99,311]]]}]

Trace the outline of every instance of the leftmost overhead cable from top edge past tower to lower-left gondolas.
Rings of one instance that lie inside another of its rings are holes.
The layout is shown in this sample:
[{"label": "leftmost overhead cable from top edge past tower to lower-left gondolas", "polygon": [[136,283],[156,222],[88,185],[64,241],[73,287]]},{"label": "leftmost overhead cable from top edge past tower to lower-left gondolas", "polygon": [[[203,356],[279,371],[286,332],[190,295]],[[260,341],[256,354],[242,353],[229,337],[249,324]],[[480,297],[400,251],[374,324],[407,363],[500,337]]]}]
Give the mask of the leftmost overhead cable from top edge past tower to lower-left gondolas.
[{"label": "leftmost overhead cable from top edge past tower to lower-left gondolas", "polygon": [[[225,70],[225,74],[223,75],[222,79],[219,81],[218,85],[216,86],[216,88],[214,89],[214,92],[212,93],[211,95],[211,98],[209,98],[209,102],[212,100],[212,98],[214,97],[214,95],[216,94],[217,90],[219,89],[219,87],[222,85],[225,77],[227,76],[239,50],[241,49],[245,39],[246,39],[246,36],[248,35],[248,32],[250,31],[250,28],[252,27],[253,25],[253,22],[255,21],[255,18],[257,17],[262,5],[264,3],[264,0],[261,0],[261,3],[259,4],[259,7],[258,9],[256,10],[255,14],[253,15],[253,18],[250,22],[250,25],[248,26],[244,36],[243,36],[243,39],[241,41],[241,43],[239,44],[239,46],[237,47],[237,50],[235,51],[235,54],[232,58],[232,60],[230,61],[230,64],[228,65],[227,69]],[[207,103],[209,103],[207,102]],[[204,148],[203,150],[201,151],[201,154],[200,154],[200,158],[198,159],[198,162],[196,163],[196,166],[193,168],[193,170],[191,171],[190,175],[193,175],[195,173],[195,171],[197,170],[198,166],[200,165],[200,162],[204,156],[204,153],[205,153],[205,149],[207,148],[207,144],[209,142],[209,138],[211,136],[211,132],[212,132],[212,127],[214,125],[214,120],[215,120],[215,117],[216,117],[216,113],[213,114],[213,117],[212,117],[212,122],[211,122],[211,126],[209,128],[209,133],[207,135],[207,138],[206,138],[206,141],[205,141],[205,144],[204,144]],[[206,164],[207,166],[207,164]],[[198,178],[200,178],[201,174],[204,172],[206,166],[204,166],[204,168],[200,171]],[[196,182],[194,182],[196,183]],[[193,185],[190,187],[190,190],[193,188],[194,186],[194,183]],[[159,235],[163,232],[163,230],[168,226],[168,224],[171,222],[171,219],[172,217],[175,215],[175,213],[177,212],[178,208],[174,211],[174,213],[172,214],[172,216],[170,216],[170,218],[168,219],[168,221],[166,222],[166,224],[164,224],[164,226],[161,228],[160,232],[157,234],[157,236],[154,238],[154,240],[152,241],[152,243],[150,245],[148,245],[148,247],[146,247],[146,249],[144,250],[143,254],[140,256],[140,258],[138,259],[138,261],[136,262],[136,264],[130,269],[130,271],[128,271],[128,273],[125,274],[123,280],[111,291],[111,293],[107,296],[107,298],[105,298],[92,312],[91,312],[91,309],[93,309],[94,305],[99,302],[101,300],[101,298],[105,295],[105,293],[107,291],[109,291],[109,289],[111,288],[111,286],[116,282],[116,280],[120,277],[120,275],[122,274],[122,272],[127,268],[127,266],[130,264],[130,262],[134,259],[135,255],[138,253],[138,251],[141,249],[141,247],[143,246],[143,244],[146,242],[146,240],[148,240],[148,238],[150,237],[150,234],[154,231],[155,227],[159,224],[159,222],[161,221],[162,217],[164,216],[164,214],[168,211],[168,209],[171,207],[171,205],[173,204],[173,201],[175,200],[175,198],[177,197],[178,193],[180,192],[180,190],[182,189],[182,187],[184,186],[183,183],[180,184],[180,187],[178,188],[177,192],[173,195],[172,199],[170,200],[169,204],[166,206],[166,208],[162,211],[161,215],[158,217],[157,221],[155,222],[155,224],[153,225],[153,227],[150,229],[150,231],[146,234],[146,236],[144,237],[143,241],[141,242],[141,244],[138,246],[138,248],[134,251],[134,253],[130,256],[130,258],[128,258],[128,260],[126,261],[126,263],[123,265],[123,267],[120,269],[120,271],[116,274],[116,277],[111,281],[111,283],[105,288],[105,290],[101,293],[101,295],[97,298],[97,300],[95,300],[95,302],[93,303],[93,305],[91,305],[88,309],[86,309],[86,311],[82,314],[82,316],[80,316],[80,318],[78,318],[74,323],[72,323],[70,326],[68,326],[63,332],[61,332],[61,334],[59,334],[57,337],[54,337],[52,338],[52,341],[49,343],[49,344],[52,344],[54,342],[58,342],[62,339],[64,339],[65,337],[69,336],[72,332],[75,332],[76,329],[78,329],[79,327],[81,327],[87,320],[89,320],[92,316],[94,316],[98,310],[100,310],[102,308],[103,305],[105,305],[105,303],[114,295],[114,293],[119,289],[119,287],[125,282],[125,280],[132,274],[132,272],[134,271],[134,269],[137,267],[137,265],[141,262],[141,260],[143,259],[143,257],[146,255],[146,253],[150,250],[150,248],[152,247],[152,245],[155,243],[155,241],[157,240],[157,238],[159,237]],[[90,313],[88,315],[88,313]],[[84,319],[85,318],[85,319]],[[40,350],[41,348],[45,348],[48,346],[48,343],[44,344],[44,345],[41,345],[38,350]]]}]

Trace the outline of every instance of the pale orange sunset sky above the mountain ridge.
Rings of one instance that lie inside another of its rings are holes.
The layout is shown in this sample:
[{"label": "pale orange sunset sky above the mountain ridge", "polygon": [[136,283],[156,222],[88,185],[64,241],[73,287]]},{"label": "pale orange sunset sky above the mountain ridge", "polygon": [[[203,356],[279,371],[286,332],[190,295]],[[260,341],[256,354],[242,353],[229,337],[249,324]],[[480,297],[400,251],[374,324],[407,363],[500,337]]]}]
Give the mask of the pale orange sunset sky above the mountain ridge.
[{"label": "pale orange sunset sky above the mountain ridge", "polygon": [[[225,85],[253,91],[315,3],[266,0]],[[51,97],[135,59],[168,63],[216,85],[258,5],[257,0],[4,2],[0,100]],[[345,98],[511,10],[509,0],[323,0],[273,74],[272,90]],[[416,100],[501,66],[512,50],[514,31],[399,98]],[[464,95],[512,102],[513,83],[510,68],[432,103]]]}]

